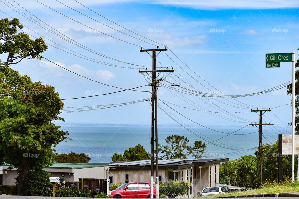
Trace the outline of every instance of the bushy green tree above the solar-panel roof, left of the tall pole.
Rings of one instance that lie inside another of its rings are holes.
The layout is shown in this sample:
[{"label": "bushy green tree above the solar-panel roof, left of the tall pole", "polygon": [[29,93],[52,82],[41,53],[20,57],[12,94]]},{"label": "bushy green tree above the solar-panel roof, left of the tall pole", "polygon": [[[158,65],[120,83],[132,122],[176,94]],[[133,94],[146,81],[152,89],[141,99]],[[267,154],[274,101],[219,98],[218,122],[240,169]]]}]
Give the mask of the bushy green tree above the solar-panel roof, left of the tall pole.
[{"label": "bushy green tree above the solar-panel roof, left of the tall pole", "polygon": [[130,147],[129,150],[125,150],[123,155],[114,153],[111,159],[113,162],[149,160],[150,153],[146,152],[145,148],[138,144],[135,147]]}]

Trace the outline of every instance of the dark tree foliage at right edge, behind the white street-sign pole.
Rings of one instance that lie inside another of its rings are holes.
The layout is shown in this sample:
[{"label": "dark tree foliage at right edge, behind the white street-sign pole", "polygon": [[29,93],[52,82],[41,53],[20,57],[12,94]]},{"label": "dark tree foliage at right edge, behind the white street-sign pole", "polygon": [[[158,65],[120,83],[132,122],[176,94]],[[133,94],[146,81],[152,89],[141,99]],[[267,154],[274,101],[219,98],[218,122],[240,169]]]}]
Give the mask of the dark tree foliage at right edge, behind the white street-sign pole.
[{"label": "dark tree foliage at right edge, behind the white street-sign pole", "polygon": [[[297,49],[299,51],[299,49]],[[295,67],[299,67],[299,59],[295,63]],[[293,85],[290,83],[287,86],[287,93],[292,95]],[[292,125],[292,122],[289,123]],[[299,71],[295,71],[295,131],[299,130]]]}]

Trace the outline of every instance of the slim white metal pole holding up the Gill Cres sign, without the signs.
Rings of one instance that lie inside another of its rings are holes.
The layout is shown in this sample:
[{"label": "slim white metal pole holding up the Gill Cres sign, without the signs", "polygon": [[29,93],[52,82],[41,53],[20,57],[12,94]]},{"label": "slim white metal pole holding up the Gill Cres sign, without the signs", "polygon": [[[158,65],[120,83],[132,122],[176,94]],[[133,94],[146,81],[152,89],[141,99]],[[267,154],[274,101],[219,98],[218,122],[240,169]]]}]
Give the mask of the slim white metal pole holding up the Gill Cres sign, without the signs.
[{"label": "slim white metal pole holding up the Gill Cres sign, without the signs", "polygon": [[293,54],[293,87],[292,87],[292,183],[294,182],[295,174],[295,52]]}]

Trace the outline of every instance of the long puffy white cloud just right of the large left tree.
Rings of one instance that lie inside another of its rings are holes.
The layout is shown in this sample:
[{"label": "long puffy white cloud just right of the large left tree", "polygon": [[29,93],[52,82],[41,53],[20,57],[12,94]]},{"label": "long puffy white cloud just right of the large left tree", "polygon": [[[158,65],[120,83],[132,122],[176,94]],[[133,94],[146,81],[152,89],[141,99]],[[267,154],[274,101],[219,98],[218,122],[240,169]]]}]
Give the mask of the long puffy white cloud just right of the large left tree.
[{"label": "long puffy white cloud just right of the large left tree", "polygon": [[[66,68],[72,72],[78,73],[79,75],[82,75],[82,76],[87,76],[87,77],[94,76],[94,77],[99,78],[100,80],[110,80],[115,77],[115,75],[108,70],[93,71],[93,70],[88,70],[85,67],[80,66],[79,64],[73,64],[70,66],[66,66],[61,62],[54,62],[54,63],[58,64],[61,67]],[[54,63],[47,62],[47,61],[40,61],[40,66],[47,68],[49,70],[49,72],[50,71],[52,72],[53,70],[55,70],[56,76],[64,76],[65,73],[63,73],[63,71],[62,71],[63,69]],[[68,72],[68,73],[70,73],[70,72]]]}]

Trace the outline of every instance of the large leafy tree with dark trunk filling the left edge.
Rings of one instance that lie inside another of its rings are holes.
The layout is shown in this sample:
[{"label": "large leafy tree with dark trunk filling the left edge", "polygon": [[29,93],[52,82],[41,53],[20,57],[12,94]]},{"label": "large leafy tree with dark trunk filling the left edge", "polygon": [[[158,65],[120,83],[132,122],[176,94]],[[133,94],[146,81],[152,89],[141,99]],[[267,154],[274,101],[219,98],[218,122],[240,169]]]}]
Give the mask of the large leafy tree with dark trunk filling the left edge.
[{"label": "large leafy tree with dark trunk filling the left edge", "polygon": [[47,49],[42,38],[32,40],[18,32],[18,19],[0,20],[0,164],[6,162],[19,173],[18,194],[23,195],[24,180],[29,171],[54,163],[55,147],[67,139],[53,121],[64,104],[50,85],[32,82],[10,66],[21,60],[41,59]]}]

